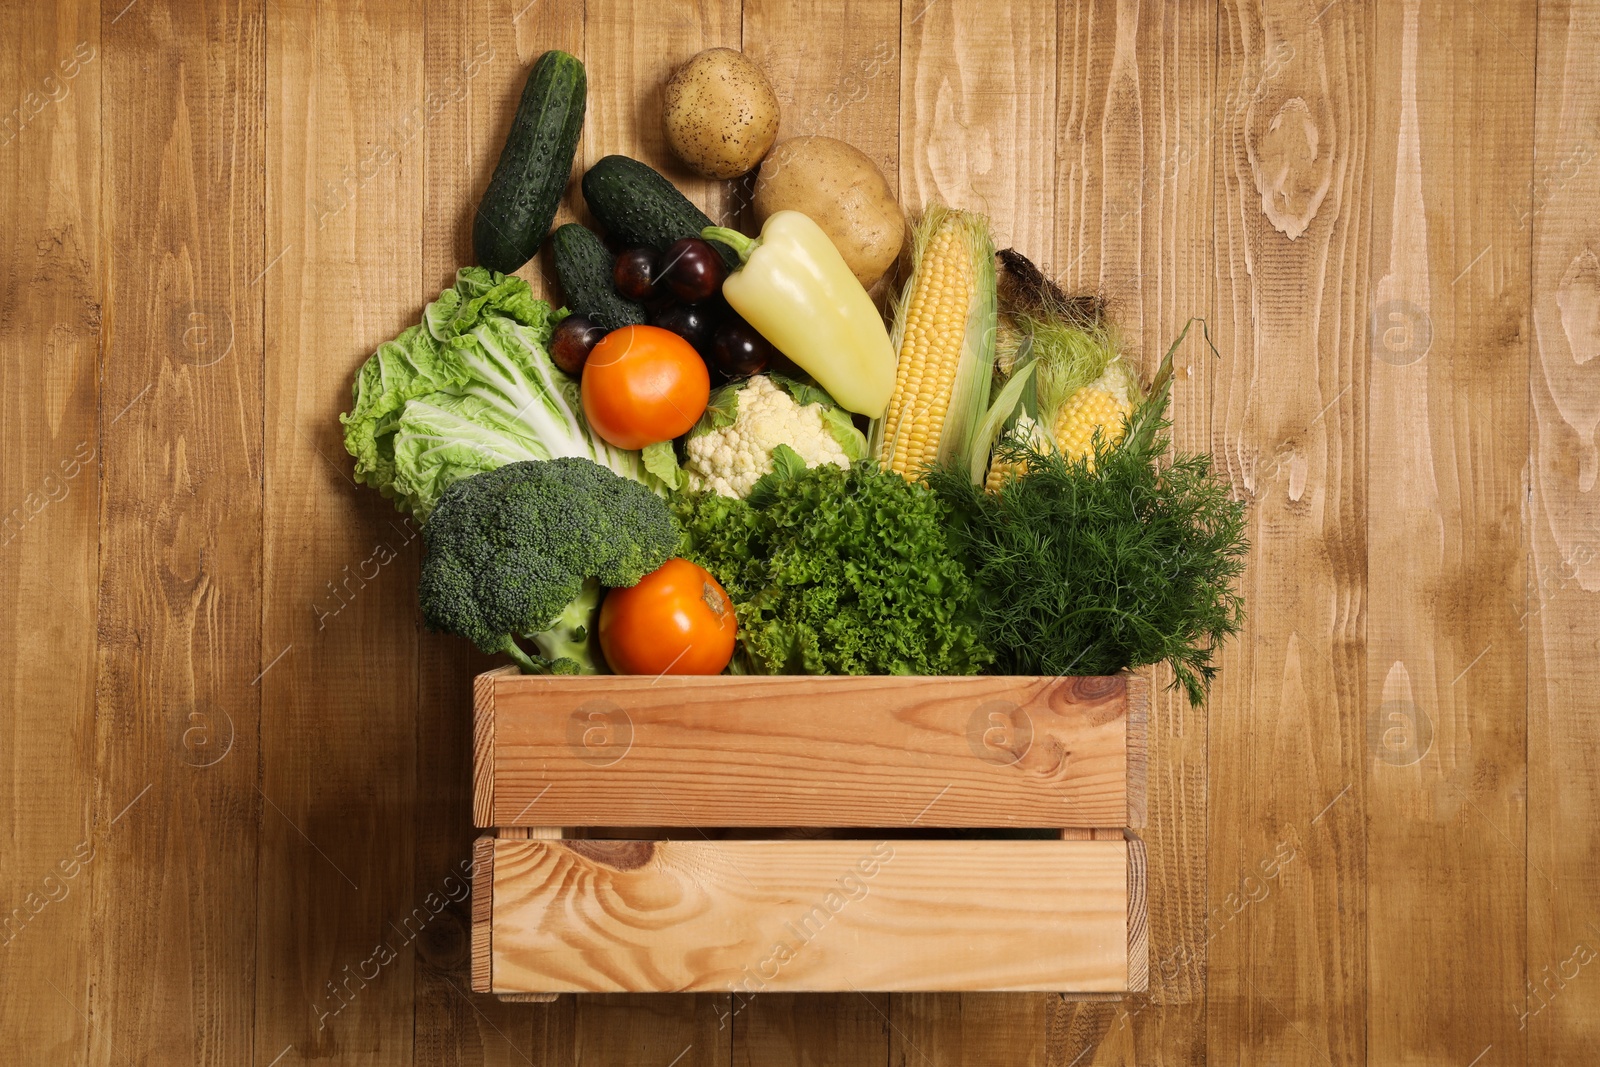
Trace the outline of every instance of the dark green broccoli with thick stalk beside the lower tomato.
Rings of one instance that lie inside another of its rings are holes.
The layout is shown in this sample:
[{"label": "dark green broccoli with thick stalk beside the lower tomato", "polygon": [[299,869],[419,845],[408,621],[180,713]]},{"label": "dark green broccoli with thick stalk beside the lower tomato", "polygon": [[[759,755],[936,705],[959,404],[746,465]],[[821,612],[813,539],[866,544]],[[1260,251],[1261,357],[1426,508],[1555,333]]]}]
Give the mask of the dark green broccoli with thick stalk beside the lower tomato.
[{"label": "dark green broccoli with thick stalk beside the lower tomato", "polygon": [[637,584],[677,542],[638,482],[578,458],[507,464],[445,490],[422,528],[422,617],[528,673],[595,673],[600,589]]}]

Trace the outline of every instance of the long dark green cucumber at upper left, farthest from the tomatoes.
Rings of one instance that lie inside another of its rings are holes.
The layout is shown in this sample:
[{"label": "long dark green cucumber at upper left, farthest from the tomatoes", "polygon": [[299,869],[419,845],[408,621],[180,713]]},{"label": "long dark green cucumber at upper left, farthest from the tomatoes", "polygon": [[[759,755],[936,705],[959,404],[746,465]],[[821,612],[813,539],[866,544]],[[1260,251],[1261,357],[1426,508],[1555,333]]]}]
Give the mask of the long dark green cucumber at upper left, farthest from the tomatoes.
[{"label": "long dark green cucumber at upper left, farthest from the tomatoes", "polygon": [[490,270],[510,274],[539,251],[584,126],[584,64],[550,50],[533,62],[494,178],[472,219],[472,251]]}]

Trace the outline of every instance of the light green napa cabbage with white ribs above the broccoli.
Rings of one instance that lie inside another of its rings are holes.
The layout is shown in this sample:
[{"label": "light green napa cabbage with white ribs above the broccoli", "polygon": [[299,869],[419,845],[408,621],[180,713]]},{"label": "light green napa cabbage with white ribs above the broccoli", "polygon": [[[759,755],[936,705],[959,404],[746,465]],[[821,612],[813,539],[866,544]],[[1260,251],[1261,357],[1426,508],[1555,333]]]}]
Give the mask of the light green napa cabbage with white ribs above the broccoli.
[{"label": "light green napa cabbage with white ribs above the broccoli", "polygon": [[427,518],[451,483],[525,459],[581,456],[648,480],[637,453],[589,434],[578,382],[550,362],[562,317],[522,278],[456,272],[355,378],[341,422],[357,482]]}]

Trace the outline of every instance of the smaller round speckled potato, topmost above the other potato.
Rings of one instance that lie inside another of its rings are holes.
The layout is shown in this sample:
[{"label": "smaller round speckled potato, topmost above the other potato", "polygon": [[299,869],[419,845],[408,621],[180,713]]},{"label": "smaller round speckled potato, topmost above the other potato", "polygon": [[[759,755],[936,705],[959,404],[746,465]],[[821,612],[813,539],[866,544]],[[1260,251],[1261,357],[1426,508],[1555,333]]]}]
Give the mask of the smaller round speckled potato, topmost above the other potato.
[{"label": "smaller round speckled potato, topmost above the other potato", "polygon": [[778,94],[741,51],[707,48],[667,80],[667,144],[691,171],[738,178],[778,139]]}]

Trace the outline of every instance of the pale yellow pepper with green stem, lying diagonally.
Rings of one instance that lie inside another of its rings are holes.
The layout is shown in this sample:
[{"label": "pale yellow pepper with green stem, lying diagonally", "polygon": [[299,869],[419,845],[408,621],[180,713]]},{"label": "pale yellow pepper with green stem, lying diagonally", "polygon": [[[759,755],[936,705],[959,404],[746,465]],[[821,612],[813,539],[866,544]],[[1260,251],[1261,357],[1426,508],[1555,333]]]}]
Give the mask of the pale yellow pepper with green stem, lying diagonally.
[{"label": "pale yellow pepper with green stem, lying diagonally", "polygon": [[894,347],[872,298],[821,226],[800,211],[774,211],[758,238],[722,226],[707,226],[701,237],[739,254],[741,266],[722,283],[733,310],[838,406],[883,416],[894,392]]}]

